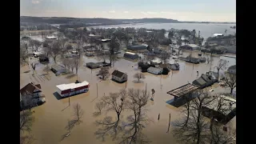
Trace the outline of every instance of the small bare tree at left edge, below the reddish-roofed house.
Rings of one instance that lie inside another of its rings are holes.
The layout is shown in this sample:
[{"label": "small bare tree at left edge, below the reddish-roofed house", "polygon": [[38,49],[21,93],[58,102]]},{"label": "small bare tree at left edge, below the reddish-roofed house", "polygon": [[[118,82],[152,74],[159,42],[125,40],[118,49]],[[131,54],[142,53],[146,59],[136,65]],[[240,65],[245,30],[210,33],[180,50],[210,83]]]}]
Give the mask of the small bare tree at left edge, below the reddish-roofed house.
[{"label": "small bare tree at left edge, below the reddish-roofed house", "polygon": [[34,116],[32,115],[32,112],[29,110],[24,110],[21,112],[20,117],[19,117],[19,130],[20,132],[30,132],[31,131],[31,126],[34,122]]}]

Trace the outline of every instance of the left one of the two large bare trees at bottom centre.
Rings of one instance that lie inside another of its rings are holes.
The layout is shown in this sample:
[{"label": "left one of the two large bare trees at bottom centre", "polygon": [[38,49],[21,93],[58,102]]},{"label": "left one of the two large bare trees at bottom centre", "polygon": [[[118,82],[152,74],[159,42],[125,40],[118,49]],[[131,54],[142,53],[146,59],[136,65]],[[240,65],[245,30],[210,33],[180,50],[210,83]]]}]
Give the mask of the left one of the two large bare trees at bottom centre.
[{"label": "left one of the two large bare trees at bottom centre", "polygon": [[118,93],[110,93],[109,96],[104,96],[100,99],[97,105],[103,104],[102,107],[99,107],[100,111],[98,114],[102,114],[102,110],[106,112],[114,112],[116,114],[116,119],[113,120],[111,116],[106,116],[103,120],[97,120],[96,125],[102,126],[98,129],[95,134],[98,138],[104,140],[105,136],[111,134],[111,137],[115,139],[119,131],[122,130],[120,124],[120,115],[125,109],[126,104],[126,90],[120,90]]}]

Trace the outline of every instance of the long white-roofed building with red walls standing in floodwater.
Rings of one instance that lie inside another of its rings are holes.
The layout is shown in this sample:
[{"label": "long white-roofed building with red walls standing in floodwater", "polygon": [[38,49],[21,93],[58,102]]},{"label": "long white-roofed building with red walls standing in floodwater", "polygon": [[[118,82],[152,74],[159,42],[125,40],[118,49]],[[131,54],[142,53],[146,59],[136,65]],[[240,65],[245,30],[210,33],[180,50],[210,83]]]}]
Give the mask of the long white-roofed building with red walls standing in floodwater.
[{"label": "long white-roofed building with red walls standing in floodwater", "polygon": [[58,85],[57,92],[62,97],[68,97],[74,94],[81,94],[89,90],[89,82],[74,82],[69,84]]}]

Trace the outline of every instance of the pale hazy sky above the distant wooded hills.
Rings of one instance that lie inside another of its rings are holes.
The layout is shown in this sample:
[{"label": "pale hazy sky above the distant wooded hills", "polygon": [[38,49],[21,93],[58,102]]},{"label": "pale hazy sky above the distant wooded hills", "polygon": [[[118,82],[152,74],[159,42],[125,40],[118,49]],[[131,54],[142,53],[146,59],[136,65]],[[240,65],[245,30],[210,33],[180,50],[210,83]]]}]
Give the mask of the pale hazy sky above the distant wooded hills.
[{"label": "pale hazy sky above the distant wooded hills", "polygon": [[21,16],[236,22],[235,0],[20,0]]}]

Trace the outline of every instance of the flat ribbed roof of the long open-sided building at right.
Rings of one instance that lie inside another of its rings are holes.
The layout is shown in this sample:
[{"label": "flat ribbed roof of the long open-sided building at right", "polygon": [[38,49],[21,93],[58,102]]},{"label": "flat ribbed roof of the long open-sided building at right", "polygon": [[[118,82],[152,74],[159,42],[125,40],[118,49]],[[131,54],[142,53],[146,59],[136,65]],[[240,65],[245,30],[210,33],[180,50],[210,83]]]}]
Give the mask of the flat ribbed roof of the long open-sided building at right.
[{"label": "flat ribbed roof of the long open-sided building at right", "polygon": [[174,90],[168,91],[167,94],[173,95],[175,97],[182,97],[185,94],[189,94],[190,92],[197,90],[198,88],[199,88],[199,86],[188,83],[188,84],[180,86]]}]

